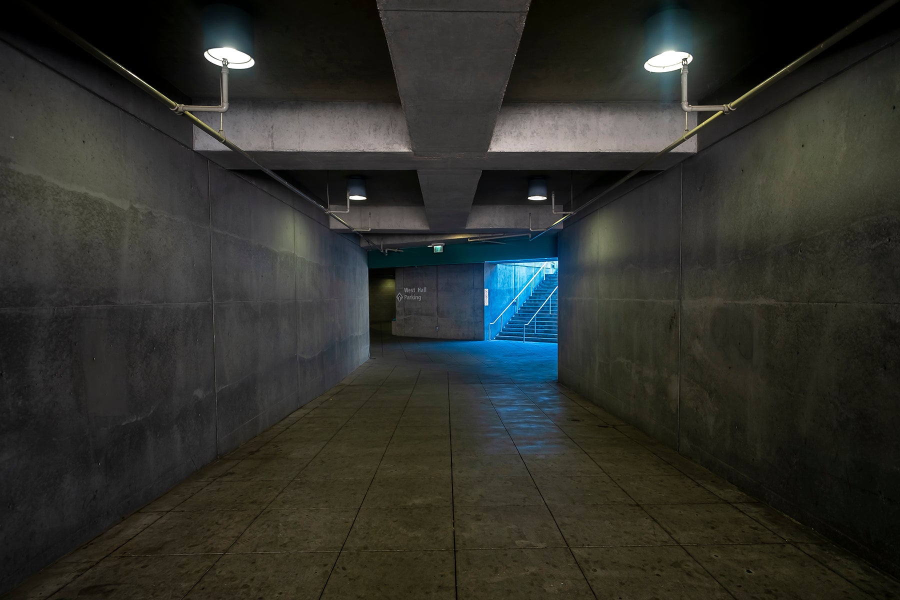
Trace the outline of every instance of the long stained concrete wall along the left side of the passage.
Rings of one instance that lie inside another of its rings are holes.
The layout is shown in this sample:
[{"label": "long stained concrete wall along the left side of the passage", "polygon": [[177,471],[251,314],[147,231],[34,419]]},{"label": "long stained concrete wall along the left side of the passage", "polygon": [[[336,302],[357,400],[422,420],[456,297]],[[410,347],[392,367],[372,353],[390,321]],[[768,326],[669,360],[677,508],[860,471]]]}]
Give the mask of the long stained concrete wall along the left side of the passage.
[{"label": "long stained concrete wall along the left side of the passage", "polygon": [[360,248],[81,68],[0,41],[0,592],[368,355]]}]

